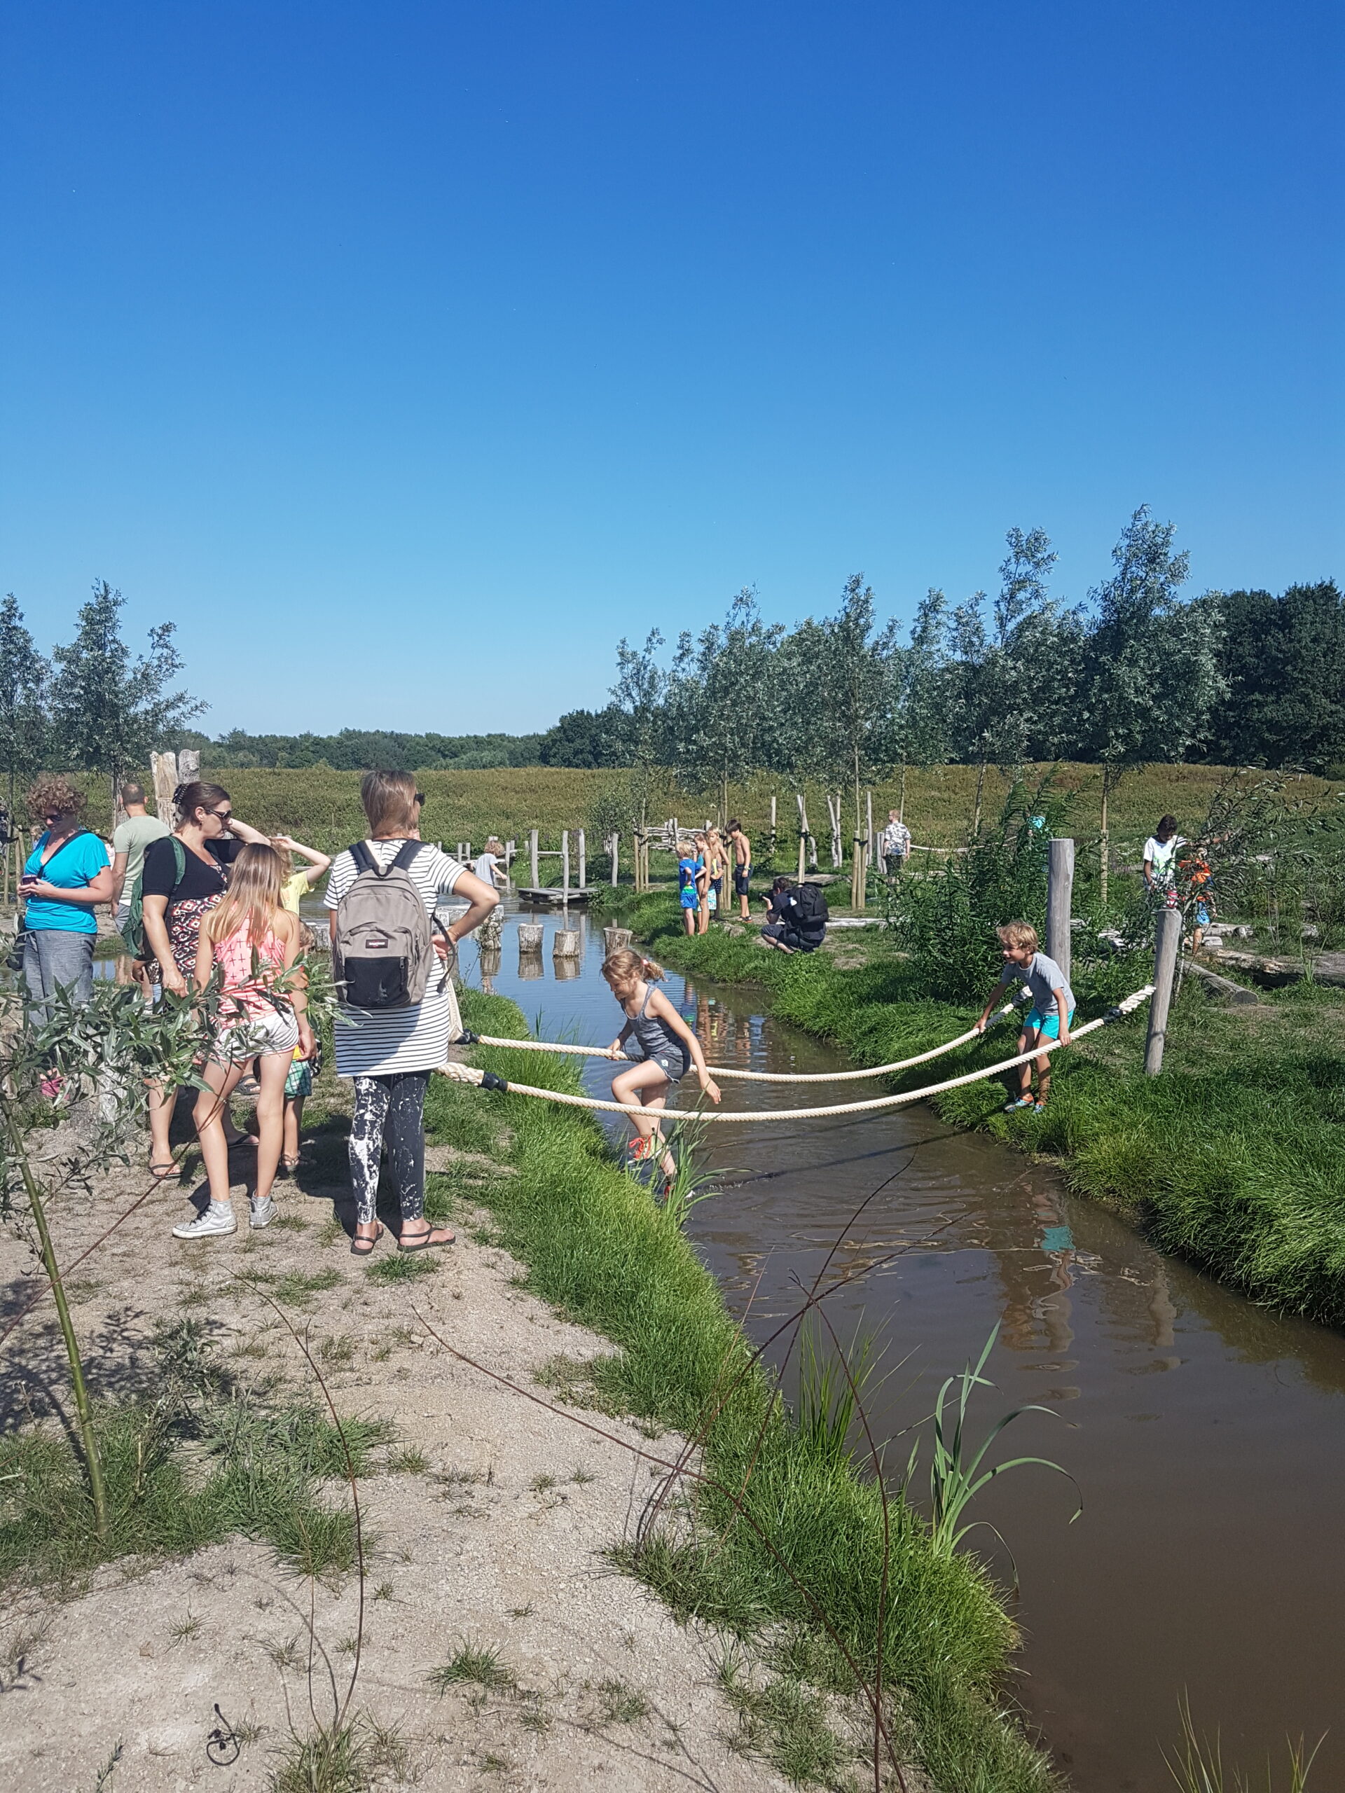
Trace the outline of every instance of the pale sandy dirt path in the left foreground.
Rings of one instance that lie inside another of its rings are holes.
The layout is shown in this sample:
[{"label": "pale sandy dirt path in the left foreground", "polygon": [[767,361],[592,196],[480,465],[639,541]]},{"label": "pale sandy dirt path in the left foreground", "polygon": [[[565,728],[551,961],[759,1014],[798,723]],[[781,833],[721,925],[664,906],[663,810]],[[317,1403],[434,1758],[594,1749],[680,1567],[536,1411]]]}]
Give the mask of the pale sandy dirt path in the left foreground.
[{"label": "pale sandy dirt path in the left foreground", "polygon": [[[432,1162],[447,1169],[447,1149]],[[75,1325],[97,1393],[143,1386],[154,1323],[203,1320],[221,1359],[242,1377],[312,1377],[278,1316],[235,1273],[335,1271],[291,1318],[326,1347],[325,1372],[343,1415],[393,1420],[400,1447],[429,1460],[416,1472],[360,1483],[373,1537],[355,1709],[393,1728],[404,1780],[466,1788],[784,1788],[730,1746],[737,1716],[714,1676],[714,1639],[678,1626],[604,1549],[629,1537],[655,1476],[615,1443],[536,1406],[436,1345],[412,1304],[445,1339],[520,1386],[536,1388],[558,1354],[604,1350],[513,1286],[518,1266],[472,1237],[439,1253],[438,1273],[380,1284],[350,1255],[334,1216],[348,1214],[334,1155],[280,1183],[283,1225],[249,1234],[235,1153],[235,1235],[185,1243],[199,1185],[156,1189],[72,1275]],[[323,1182],[323,1176],[326,1182]],[[91,1201],[57,1203],[66,1262],[145,1187],[118,1173]],[[387,1253],[384,1237],[375,1255]],[[4,1312],[29,1298],[39,1268],[13,1228],[0,1230]],[[7,1341],[0,1420],[65,1409],[65,1375],[50,1304]],[[601,1420],[635,1445],[620,1420]],[[676,1449],[674,1438],[656,1445]],[[339,1488],[334,1490],[334,1497]],[[124,1560],[66,1601],[23,1592],[0,1614],[0,1784],[14,1793],[179,1793],[269,1786],[292,1732],[332,1711],[326,1669],[307,1673],[316,1637],[339,1687],[350,1676],[357,1578],[310,1583],[278,1567],[262,1544],[233,1540],[183,1562]],[[457,1684],[443,1696],[427,1676],[463,1644],[497,1650],[513,1685]],[[221,1725],[221,1718],[224,1727]],[[212,1732],[226,1730],[208,1750]],[[120,1750],[120,1757],[117,1752]],[[215,1766],[212,1755],[237,1757]],[[111,1764],[111,1768],[108,1766]]]}]

